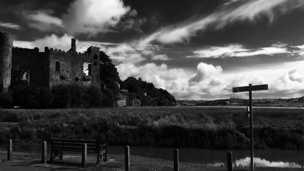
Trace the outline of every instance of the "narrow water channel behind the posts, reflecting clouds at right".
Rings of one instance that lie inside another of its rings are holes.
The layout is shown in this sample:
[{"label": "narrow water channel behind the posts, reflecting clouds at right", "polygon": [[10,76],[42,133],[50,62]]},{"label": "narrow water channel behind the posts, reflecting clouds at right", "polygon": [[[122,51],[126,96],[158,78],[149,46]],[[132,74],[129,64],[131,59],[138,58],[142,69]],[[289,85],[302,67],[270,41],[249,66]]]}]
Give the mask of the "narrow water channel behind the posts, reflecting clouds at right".
[{"label": "narrow water channel behind the posts, reflecting clouds at right", "polygon": [[[5,151],[6,144],[0,144],[0,150]],[[13,151],[40,153],[41,146],[33,144],[13,144]],[[143,157],[165,159],[173,161],[174,148],[155,148],[155,147],[130,147],[131,155]],[[50,145],[47,146],[50,153]],[[214,166],[225,165],[227,162],[228,150],[208,150],[208,149],[178,149],[179,161],[187,163],[202,163]],[[249,167],[249,150],[230,150],[232,152],[233,165]],[[108,154],[124,154],[124,146],[107,146]],[[64,154],[81,154],[78,152],[64,152]],[[254,163],[257,167],[303,167],[304,152],[299,150],[254,150]]]}]

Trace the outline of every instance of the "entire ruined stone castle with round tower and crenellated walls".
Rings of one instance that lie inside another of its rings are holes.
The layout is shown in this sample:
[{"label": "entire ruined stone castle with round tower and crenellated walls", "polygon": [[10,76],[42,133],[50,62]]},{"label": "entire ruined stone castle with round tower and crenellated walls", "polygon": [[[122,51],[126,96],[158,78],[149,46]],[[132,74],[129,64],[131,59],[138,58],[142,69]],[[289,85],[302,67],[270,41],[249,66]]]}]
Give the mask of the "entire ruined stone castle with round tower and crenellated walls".
[{"label": "entire ruined stone castle with round tower and crenellated walls", "polygon": [[26,49],[12,45],[12,34],[0,31],[0,92],[10,86],[28,84],[49,88],[71,83],[100,87],[97,47],[91,46],[86,53],[78,53],[75,39],[66,52],[49,47],[40,52],[37,47]]}]

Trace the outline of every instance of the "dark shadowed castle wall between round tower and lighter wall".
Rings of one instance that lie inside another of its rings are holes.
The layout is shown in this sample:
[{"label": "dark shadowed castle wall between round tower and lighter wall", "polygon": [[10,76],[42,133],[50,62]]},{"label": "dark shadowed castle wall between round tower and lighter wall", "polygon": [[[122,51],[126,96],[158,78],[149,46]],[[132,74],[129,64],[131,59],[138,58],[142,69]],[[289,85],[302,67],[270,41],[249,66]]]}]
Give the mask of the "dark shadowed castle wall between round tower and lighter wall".
[{"label": "dark shadowed castle wall between round tower and lighter wall", "polygon": [[[49,86],[49,61],[44,52],[38,48],[12,48],[12,77],[11,85],[37,84]],[[26,79],[22,77],[27,72]]]}]

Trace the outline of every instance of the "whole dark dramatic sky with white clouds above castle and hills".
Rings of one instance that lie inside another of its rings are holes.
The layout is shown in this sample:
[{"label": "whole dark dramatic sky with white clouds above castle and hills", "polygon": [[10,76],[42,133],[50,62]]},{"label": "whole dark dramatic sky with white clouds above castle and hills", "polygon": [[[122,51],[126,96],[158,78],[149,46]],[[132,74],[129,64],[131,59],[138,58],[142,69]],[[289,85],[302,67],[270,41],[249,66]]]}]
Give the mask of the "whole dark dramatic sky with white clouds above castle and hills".
[{"label": "whole dark dramatic sky with white clouds above castle and hills", "polygon": [[121,80],[142,78],[176,99],[304,95],[303,0],[1,0],[15,47],[97,46]]}]

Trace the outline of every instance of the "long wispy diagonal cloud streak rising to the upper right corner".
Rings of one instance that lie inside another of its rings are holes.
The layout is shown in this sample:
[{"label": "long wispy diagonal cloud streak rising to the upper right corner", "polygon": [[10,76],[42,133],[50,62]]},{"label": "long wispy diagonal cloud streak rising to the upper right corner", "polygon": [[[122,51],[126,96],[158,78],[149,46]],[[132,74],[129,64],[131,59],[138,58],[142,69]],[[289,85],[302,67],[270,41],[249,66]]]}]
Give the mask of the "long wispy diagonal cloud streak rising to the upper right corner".
[{"label": "long wispy diagonal cloud streak rising to the upper right corner", "polygon": [[159,28],[150,36],[142,39],[143,44],[157,41],[163,44],[189,42],[199,30],[221,29],[236,21],[256,21],[260,16],[266,16],[271,22],[277,14],[285,14],[292,9],[303,6],[302,0],[248,0],[226,4],[208,16],[189,19],[183,23]]}]

